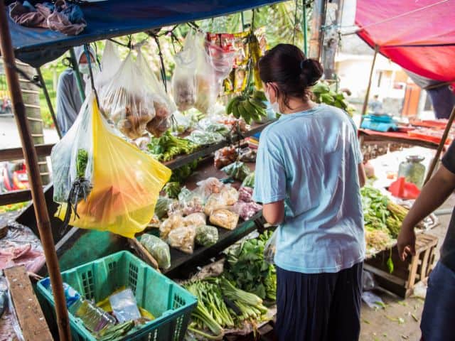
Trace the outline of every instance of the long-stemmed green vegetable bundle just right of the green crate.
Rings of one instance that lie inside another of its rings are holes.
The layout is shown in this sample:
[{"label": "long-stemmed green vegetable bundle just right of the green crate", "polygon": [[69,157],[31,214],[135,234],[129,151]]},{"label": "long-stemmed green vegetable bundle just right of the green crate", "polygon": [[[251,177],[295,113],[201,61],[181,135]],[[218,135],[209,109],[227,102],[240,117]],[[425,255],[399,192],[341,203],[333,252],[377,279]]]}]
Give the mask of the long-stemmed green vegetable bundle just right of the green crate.
[{"label": "long-stemmed green vegetable bundle just right of the green crate", "polygon": [[260,321],[267,313],[261,298],[223,277],[193,281],[185,288],[198,298],[188,330],[209,340],[221,340],[225,328],[241,326],[245,320]]}]

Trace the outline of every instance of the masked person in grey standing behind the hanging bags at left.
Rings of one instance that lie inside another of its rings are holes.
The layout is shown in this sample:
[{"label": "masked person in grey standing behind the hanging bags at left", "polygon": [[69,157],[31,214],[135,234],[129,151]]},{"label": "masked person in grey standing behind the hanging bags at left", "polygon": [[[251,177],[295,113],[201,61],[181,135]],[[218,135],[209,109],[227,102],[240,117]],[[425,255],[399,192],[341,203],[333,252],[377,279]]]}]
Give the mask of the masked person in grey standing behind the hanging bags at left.
[{"label": "masked person in grey standing behind the hanging bags at left", "polygon": [[[84,47],[75,48],[75,55],[78,61],[79,72],[82,74],[82,87],[90,77],[90,70],[87,55],[84,53]],[[90,48],[90,63],[95,67],[95,51]],[[82,99],[77,87],[75,70],[68,67],[60,74],[57,85],[57,124],[60,131],[65,135],[79,114],[82,107]]]}]

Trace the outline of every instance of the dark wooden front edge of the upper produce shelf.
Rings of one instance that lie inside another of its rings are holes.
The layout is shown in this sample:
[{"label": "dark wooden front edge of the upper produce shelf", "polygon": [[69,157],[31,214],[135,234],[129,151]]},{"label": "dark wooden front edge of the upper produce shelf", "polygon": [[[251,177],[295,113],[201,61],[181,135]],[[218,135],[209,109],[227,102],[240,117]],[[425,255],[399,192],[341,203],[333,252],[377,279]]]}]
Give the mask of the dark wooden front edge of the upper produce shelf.
[{"label": "dark wooden front edge of the upper produce shelf", "polygon": [[234,136],[230,141],[226,140],[221,141],[218,144],[211,144],[210,146],[206,146],[196,151],[195,153],[191,153],[189,155],[177,156],[171,161],[164,162],[164,165],[171,169],[179,168],[181,166],[186,165],[187,163],[191,163],[192,161],[198,160],[198,158],[209,156],[211,153],[218,151],[218,149],[229,146],[230,144],[241,141],[242,139],[245,139],[247,137],[251,137],[264,130],[266,126],[272,124],[274,121],[275,120],[267,121],[266,123],[262,124],[252,124],[251,129],[249,131],[245,131],[245,133],[242,133],[242,136]]}]

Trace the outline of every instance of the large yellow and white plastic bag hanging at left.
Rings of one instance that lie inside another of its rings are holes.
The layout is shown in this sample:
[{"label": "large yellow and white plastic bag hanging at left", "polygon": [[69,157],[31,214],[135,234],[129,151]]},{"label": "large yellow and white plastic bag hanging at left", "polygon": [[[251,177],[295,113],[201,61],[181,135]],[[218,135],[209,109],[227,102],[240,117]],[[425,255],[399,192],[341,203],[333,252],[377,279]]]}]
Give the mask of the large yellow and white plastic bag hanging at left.
[{"label": "large yellow and white plastic bag hanging at left", "polygon": [[[87,151],[85,170],[77,165],[80,150]],[[67,210],[71,213],[69,197],[77,214],[71,216],[71,225],[128,238],[146,228],[159,192],[171,177],[171,170],[115,134],[101,116],[93,93],[68,134],[54,146],[51,160],[58,189],[54,198],[62,203],[57,217],[64,220]],[[69,169],[61,163],[70,165]],[[90,183],[90,193],[74,190],[81,179]],[[65,198],[68,188],[70,195]]]}]

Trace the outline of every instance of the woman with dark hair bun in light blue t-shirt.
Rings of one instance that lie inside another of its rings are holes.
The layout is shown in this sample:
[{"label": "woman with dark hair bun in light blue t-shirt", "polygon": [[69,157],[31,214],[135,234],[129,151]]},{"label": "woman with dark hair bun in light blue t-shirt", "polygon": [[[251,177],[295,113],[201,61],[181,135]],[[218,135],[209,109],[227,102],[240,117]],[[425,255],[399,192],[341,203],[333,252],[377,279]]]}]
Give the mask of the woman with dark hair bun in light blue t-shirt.
[{"label": "woman with dark hair bun in light blue t-shirt", "polygon": [[294,45],[259,61],[269,102],[281,117],[263,131],[255,200],[279,224],[279,340],[358,340],[365,256],[362,155],[346,112],[311,101],[323,70]]}]

